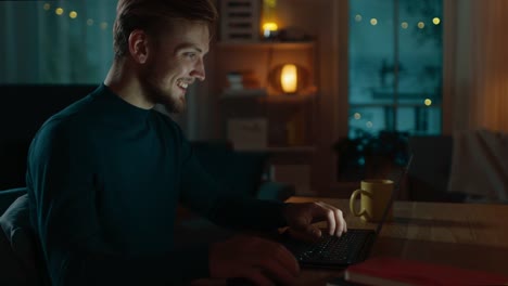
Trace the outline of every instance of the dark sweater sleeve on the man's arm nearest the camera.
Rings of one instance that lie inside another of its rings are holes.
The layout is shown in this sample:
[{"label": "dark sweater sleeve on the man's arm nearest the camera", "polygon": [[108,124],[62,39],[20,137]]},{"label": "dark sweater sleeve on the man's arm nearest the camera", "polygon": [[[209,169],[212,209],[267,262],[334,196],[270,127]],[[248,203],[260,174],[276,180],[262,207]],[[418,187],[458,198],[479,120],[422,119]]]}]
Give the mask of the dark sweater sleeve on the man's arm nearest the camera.
[{"label": "dark sweater sleeve on the man's arm nearest the camera", "polygon": [[61,125],[41,129],[29,150],[31,221],[52,285],[179,285],[208,276],[206,246],[155,256],[110,247],[90,153],[85,136]]}]

